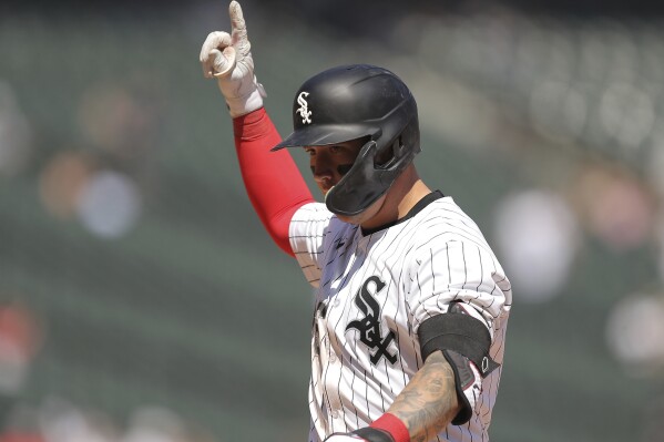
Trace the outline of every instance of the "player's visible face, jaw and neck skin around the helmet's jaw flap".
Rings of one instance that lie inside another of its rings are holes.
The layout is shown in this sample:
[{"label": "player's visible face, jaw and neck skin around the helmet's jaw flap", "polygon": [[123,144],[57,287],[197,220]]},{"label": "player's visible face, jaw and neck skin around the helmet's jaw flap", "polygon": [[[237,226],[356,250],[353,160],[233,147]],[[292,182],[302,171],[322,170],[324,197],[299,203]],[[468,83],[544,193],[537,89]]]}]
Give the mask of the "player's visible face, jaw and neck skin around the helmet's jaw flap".
[{"label": "player's visible face, jaw and neck skin around the helmet's jaw flap", "polygon": [[[326,195],[343,177],[344,169],[355,162],[364,141],[353,140],[329,146],[308,146],[309,166],[316,185]],[[341,166],[341,171],[339,171]],[[338,215],[343,222],[371,229],[403,217],[431,189],[419,178],[415,165],[403,171],[390,189],[366,210],[355,216]]]}]

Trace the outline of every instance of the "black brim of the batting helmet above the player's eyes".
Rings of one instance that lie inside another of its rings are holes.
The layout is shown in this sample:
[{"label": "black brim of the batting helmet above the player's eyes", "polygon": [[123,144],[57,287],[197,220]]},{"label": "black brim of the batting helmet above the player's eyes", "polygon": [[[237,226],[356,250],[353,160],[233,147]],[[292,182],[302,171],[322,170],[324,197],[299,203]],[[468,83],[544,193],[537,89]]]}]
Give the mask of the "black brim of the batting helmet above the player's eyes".
[{"label": "black brim of the batting helmet above the player's eyes", "polygon": [[374,136],[380,130],[366,124],[324,124],[300,127],[270,151],[284,147],[329,146],[347,141]]}]

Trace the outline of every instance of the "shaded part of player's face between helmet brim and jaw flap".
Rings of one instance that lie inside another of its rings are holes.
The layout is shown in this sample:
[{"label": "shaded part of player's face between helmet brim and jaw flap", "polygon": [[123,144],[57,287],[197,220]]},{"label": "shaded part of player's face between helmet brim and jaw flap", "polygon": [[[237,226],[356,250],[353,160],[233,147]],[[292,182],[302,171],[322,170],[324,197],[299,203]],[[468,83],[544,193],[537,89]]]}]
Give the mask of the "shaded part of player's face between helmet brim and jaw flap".
[{"label": "shaded part of player's face between helmet brim and jaw flap", "polygon": [[330,146],[305,147],[314,181],[323,195],[348,173],[362,145],[361,140],[354,140]]}]

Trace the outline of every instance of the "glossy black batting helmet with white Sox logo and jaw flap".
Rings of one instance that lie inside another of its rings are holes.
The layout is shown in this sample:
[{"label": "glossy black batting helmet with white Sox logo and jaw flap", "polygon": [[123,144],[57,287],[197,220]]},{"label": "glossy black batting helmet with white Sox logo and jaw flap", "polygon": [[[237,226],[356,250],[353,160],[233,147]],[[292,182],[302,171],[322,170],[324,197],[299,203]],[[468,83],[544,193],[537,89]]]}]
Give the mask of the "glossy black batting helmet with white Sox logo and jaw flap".
[{"label": "glossy black batting helmet with white Sox logo and jaw flap", "polygon": [[307,80],[295,95],[293,126],[273,151],[368,138],[350,171],[326,195],[328,209],[338,215],[364,212],[420,152],[412,94],[392,72],[374,65],[337,66]]}]

